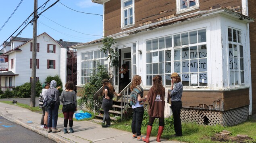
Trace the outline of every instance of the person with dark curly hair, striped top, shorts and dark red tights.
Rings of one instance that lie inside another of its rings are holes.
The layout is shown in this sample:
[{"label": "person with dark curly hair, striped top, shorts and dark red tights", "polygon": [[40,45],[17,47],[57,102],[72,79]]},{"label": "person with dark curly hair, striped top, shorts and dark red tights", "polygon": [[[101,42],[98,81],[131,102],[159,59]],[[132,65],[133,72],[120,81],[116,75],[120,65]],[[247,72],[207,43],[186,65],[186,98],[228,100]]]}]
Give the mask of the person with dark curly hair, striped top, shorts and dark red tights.
[{"label": "person with dark curly hair, striped top, shorts and dark red tights", "polygon": [[64,133],[68,133],[67,125],[69,120],[69,131],[74,133],[73,130],[73,115],[77,111],[77,94],[74,91],[74,84],[68,81],[65,85],[65,90],[60,95],[60,102],[63,103],[62,112],[64,115]]}]

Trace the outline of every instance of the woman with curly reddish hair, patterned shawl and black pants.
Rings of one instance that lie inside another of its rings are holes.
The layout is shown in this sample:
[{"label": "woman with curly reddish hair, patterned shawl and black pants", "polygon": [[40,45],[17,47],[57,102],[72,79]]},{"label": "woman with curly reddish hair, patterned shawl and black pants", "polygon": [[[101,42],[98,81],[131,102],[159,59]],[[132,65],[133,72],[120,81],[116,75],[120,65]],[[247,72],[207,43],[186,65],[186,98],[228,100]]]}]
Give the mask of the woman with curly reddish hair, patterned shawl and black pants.
[{"label": "woman with curly reddish hair, patterned shawl and black pants", "polygon": [[144,102],[147,99],[147,95],[143,97],[143,89],[140,86],[142,83],[142,77],[135,75],[131,82],[131,107],[133,108],[133,120],[131,122],[131,131],[133,133],[133,139],[137,138],[137,141],[142,141],[144,137],[141,136],[140,130],[142,129],[142,121],[144,115]]}]

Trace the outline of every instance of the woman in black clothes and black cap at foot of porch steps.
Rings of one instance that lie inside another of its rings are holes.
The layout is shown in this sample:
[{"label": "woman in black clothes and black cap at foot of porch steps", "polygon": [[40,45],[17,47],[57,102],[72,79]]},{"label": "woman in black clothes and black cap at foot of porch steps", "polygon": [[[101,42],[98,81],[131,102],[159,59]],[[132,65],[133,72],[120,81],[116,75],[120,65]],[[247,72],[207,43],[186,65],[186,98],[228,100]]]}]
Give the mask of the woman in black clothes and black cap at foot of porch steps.
[{"label": "woman in black clothes and black cap at foot of porch steps", "polygon": [[102,127],[110,127],[110,117],[109,117],[108,111],[110,110],[110,108],[113,105],[113,100],[112,99],[113,99],[114,95],[120,96],[120,94],[117,94],[115,92],[114,87],[110,83],[108,83],[108,79],[103,79],[101,82],[103,83],[102,108],[103,108],[104,116],[105,116],[105,119],[106,119],[106,122],[107,122],[106,125],[104,125],[103,124],[104,122],[103,122]]}]

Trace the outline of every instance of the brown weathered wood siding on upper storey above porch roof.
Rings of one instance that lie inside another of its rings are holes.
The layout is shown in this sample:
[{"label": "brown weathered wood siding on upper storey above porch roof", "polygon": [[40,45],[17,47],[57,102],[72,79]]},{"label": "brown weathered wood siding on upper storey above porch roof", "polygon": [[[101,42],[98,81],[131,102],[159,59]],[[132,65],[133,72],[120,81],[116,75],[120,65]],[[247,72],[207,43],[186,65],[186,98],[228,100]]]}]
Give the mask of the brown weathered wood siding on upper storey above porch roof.
[{"label": "brown weathered wood siding on upper storey above porch roof", "polygon": [[[196,12],[198,10],[210,10],[219,7],[227,7],[238,12],[241,11],[241,0],[200,0],[199,2],[199,9],[179,15]],[[176,0],[135,0],[134,5],[135,26],[121,30],[120,0],[110,0],[105,3],[104,36],[136,28],[143,24],[157,22],[162,18],[171,18],[172,16],[177,16]]]}]

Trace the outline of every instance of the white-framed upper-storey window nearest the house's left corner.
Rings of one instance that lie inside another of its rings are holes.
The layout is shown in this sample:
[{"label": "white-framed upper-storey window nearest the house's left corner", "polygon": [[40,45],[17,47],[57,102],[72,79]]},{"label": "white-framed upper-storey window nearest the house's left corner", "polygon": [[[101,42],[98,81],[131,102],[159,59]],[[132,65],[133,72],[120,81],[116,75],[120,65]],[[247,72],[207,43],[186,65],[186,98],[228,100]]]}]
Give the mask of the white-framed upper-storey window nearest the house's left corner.
[{"label": "white-framed upper-storey window nearest the house's left corner", "polygon": [[[134,16],[134,0],[131,0],[132,1],[132,4],[129,5],[129,6],[126,6],[124,7],[124,3],[125,2],[128,2],[130,0],[121,0],[121,29],[125,29],[125,28],[129,28],[129,27],[132,27],[135,25],[135,16]],[[132,18],[133,18],[133,22],[132,24],[129,24],[129,9],[132,8]],[[125,22],[124,22],[124,10],[127,10],[127,25],[125,25]]]}]

